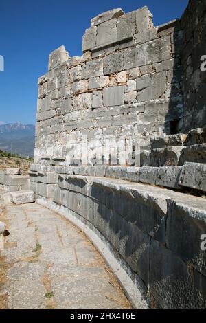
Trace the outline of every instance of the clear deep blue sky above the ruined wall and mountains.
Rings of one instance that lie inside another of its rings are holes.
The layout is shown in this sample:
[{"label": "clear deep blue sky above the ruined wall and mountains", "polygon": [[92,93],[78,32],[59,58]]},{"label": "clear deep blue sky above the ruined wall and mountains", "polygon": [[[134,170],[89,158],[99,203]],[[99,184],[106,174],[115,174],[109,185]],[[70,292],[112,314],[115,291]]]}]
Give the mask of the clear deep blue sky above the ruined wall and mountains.
[{"label": "clear deep blue sky above the ruined wall and mountains", "polygon": [[180,17],[188,0],[1,0],[0,124],[34,124],[37,78],[47,71],[49,53],[65,45],[81,55],[82,35],[90,19],[111,8],[130,12],[147,5],[155,25]]}]

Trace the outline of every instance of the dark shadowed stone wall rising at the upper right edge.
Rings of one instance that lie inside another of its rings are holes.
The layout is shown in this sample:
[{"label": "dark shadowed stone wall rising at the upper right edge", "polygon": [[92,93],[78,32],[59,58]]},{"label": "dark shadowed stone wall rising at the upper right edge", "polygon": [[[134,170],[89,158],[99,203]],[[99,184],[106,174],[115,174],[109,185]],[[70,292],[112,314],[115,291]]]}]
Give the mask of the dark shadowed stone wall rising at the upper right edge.
[{"label": "dark shadowed stone wall rising at the upper right edge", "polygon": [[183,65],[184,113],[181,129],[188,131],[206,124],[206,72],[201,57],[206,55],[206,1],[191,1],[181,18],[184,30]]}]

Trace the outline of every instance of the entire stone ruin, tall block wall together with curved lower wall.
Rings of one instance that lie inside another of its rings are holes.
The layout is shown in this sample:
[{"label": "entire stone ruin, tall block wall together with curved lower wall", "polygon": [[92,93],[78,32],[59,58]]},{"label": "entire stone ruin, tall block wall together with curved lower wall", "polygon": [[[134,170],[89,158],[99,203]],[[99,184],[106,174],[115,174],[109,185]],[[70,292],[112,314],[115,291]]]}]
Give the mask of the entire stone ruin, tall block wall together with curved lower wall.
[{"label": "entire stone ruin, tall block wall together with curved lower wall", "polygon": [[205,8],[190,0],[159,27],[147,7],[104,12],[82,56],[61,46],[38,79],[30,189],[89,236],[136,308],[206,306]]}]

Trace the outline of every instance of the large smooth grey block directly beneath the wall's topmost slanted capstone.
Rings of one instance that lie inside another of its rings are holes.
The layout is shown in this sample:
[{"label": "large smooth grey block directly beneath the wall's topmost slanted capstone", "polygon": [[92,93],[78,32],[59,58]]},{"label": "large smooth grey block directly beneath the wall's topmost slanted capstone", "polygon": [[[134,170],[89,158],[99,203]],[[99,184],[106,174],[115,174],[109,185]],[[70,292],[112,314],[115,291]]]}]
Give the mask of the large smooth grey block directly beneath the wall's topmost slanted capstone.
[{"label": "large smooth grey block directly beneath the wall's topmost slanted capstone", "polygon": [[98,25],[97,47],[103,47],[115,41],[117,41],[117,19]]}]

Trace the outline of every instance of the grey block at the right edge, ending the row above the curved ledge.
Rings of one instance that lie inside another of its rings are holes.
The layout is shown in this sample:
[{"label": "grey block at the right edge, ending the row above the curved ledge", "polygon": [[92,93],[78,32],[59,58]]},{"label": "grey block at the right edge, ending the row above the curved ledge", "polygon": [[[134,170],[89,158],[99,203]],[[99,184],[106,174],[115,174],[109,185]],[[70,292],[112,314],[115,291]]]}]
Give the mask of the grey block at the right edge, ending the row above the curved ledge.
[{"label": "grey block at the right edge, ending the row above the curved ledge", "polygon": [[179,185],[206,192],[206,164],[186,162],[181,170]]}]

